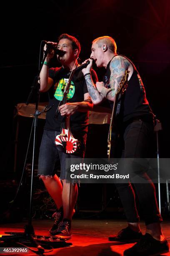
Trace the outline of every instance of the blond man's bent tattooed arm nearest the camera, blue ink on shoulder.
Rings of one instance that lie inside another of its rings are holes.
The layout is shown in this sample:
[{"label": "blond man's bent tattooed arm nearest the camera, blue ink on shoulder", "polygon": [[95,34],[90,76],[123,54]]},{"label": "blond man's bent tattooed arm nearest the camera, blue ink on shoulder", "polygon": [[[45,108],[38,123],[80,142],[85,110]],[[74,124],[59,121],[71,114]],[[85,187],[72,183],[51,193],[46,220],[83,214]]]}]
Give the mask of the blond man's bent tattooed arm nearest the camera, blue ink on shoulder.
[{"label": "blond man's bent tattooed arm nearest the camera, blue ink on shoulder", "polygon": [[[110,62],[110,88],[104,88],[101,93],[108,100],[114,101],[115,100],[115,92],[117,90],[117,86],[119,85],[123,75],[125,74],[126,69],[130,71],[129,79],[133,73],[132,64],[122,56],[115,56],[112,61]],[[105,90],[107,89],[107,91]]]}]

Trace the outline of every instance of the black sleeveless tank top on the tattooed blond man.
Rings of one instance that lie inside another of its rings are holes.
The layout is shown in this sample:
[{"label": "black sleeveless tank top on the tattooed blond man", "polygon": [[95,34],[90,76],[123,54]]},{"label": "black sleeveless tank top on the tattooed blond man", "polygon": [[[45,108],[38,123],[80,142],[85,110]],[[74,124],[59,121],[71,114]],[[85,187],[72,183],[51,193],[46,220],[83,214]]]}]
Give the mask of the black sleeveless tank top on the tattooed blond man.
[{"label": "black sleeveless tank top on the tattooed blond man", "polygon": [[[122,56],[125,59],[128,59],[123,55],[115,56]],[[103,79],[105,87],[107,88],[110,88],[110,62],[112,59],[107,64],[106,73]],[[130,59],[128,59],[128,61],[130,61]],[[148,100],[146,99],[145,87],[142,79],[140,78],[140,75],[133,62],[130,61],[130,63],[133,66],[133,74],[128,81],[127,90],[121,99],[120,115],[122,115],[123,122],[134,118],[140,118],[145,121],[153,121],[153,112],[149,106]],[[109,102],[110,107],[112,108],[113,102]]]}]

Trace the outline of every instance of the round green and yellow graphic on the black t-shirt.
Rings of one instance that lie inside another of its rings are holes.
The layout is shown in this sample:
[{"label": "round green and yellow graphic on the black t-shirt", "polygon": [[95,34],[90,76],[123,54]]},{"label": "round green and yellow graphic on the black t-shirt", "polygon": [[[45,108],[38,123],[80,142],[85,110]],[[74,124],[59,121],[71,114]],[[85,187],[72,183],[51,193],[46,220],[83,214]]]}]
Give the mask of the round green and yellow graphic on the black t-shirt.
[{"label": "round green and yellow graphic on the black t-shirt", "polygon": [[[63,95],[64,95],[64,90],[65,90],[67,83],[68,83],[68,79],[66,79],[66,78],[62,78],[58,82],[57,88],[54,93],[54,97],[57,100],[62,100]],[[71,81],[70,89],[69,89],[69,92],[67,93],[67,100],[70,100],[73,97],[74,93],[75,93],[75,85]]]}]

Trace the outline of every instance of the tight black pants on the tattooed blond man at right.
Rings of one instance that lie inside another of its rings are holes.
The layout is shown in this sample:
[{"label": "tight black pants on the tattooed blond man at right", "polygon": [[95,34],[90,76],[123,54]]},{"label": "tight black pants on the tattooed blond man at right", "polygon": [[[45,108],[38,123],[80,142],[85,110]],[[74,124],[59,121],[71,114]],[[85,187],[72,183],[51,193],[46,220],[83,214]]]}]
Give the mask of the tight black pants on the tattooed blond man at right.
[{"label": "tight black pants on the tattooed blond man at right", "polygon": [[[124,149],[122,157],[124,158],[145,158],[147,157],[150,136],[153,134],[153,124],[142,120],[133,120],[125,125],[122,138]],[[147,183],[133,183],[135,192],[138,196],[140,207],[143,213],[145,224],[161,222],[162,217],[158,208],[155,186],[145,172],[137,170],[138,175],[142,176]],[[133,177],[133,175],[131,175]],[[132,185],[129,183],[115,184],[120,195],[126,218],[128,222],[134,223],[139,221],[138,210],[135,204],[135,193]]]}]

